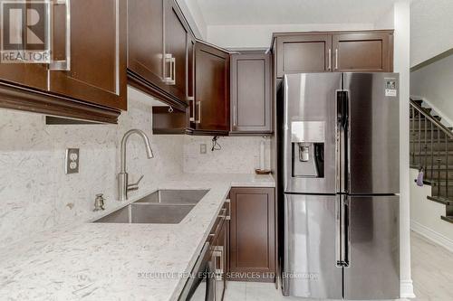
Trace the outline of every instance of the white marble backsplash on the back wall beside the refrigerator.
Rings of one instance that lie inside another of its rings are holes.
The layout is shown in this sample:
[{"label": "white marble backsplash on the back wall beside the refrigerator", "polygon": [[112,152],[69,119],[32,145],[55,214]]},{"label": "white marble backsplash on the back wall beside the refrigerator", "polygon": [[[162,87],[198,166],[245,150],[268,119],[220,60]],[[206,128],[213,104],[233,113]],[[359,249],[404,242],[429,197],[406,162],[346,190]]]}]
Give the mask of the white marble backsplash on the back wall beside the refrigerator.
[{"label": "white marble backsplash on the back wall beside the refrigerator", "polygon": [[[270,139],[260,136],[219,137],[220,150],[211,151],[212,136],[184,138],[184,172],[194,174],[254,174],[259,166],[260,142],[265,141],[265,167],[270,166]],[[200,154],[200,145],[207,154]]]}]

